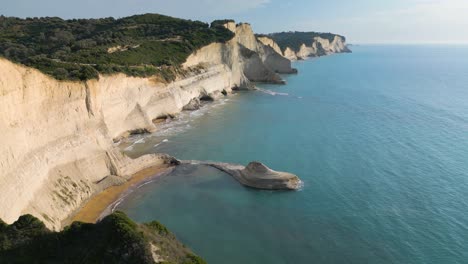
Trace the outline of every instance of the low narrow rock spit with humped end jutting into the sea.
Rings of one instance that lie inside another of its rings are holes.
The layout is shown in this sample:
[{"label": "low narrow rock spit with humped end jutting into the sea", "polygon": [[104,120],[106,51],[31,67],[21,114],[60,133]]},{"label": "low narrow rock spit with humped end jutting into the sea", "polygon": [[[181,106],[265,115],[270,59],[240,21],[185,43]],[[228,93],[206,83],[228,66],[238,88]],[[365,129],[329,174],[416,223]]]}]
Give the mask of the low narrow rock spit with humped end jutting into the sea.
[{"label": "low narrow rock spit with humped end jutting into the sea", "polygon": [[211,166],[231,175],[241,184],[256,189],[298,190],[302,186],[302,181],[298,176],[272,170],[257,161],[253,161],[247,166],[211,161],[182,161],[182,163]]}]

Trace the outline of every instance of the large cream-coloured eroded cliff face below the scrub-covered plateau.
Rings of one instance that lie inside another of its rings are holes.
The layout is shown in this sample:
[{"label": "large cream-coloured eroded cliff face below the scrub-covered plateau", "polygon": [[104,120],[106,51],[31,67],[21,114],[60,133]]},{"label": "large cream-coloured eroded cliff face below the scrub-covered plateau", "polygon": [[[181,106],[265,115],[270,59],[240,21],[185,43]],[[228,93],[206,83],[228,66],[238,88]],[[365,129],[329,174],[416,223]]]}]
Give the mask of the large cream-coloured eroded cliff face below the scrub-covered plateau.
[{"label": "large cream-coloured eroded cliff face below the scrub-covered plateau", "polygon": [[168,164],[166,155],[132,160],[113,145],[192,100],[216,98],[251,81],[281,82],[291,62],[258,42],[247,24],[226,25],[236,36],[192,54],[187,74],[172,83],[123,74],[87,82],[57,81],[0,59],[0,219],[33,214],[49,228],[86,200],[144,168]]}]

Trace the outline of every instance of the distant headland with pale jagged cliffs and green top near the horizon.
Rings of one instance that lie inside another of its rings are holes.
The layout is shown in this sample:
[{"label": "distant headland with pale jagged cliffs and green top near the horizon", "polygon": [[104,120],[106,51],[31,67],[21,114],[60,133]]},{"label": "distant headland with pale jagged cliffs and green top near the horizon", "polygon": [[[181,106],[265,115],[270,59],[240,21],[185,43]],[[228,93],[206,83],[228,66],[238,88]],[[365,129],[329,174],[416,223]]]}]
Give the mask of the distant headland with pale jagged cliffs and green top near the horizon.
[{"label": "distant headland with pale jagged cliffs and green top near the horizon", "polygon": [[290,60],[351,52],[346,38],[332,33],[282,32],[257,37],[264,45]]}]

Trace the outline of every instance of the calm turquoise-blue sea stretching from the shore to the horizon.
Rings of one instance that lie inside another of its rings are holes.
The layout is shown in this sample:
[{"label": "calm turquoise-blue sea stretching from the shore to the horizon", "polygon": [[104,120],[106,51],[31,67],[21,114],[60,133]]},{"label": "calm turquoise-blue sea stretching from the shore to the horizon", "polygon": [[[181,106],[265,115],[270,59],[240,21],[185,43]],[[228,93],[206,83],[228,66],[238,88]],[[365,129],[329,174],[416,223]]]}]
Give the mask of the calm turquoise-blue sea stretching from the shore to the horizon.
[{"label": "calm turquoise-blue sea stretching from the shore to the horizon", "polygon": [[468,47],[353,46],[122,145],[295,173],[297,192],[203,166],[118,207],[208,263],[468,263]]}]

